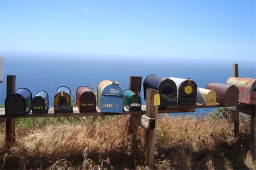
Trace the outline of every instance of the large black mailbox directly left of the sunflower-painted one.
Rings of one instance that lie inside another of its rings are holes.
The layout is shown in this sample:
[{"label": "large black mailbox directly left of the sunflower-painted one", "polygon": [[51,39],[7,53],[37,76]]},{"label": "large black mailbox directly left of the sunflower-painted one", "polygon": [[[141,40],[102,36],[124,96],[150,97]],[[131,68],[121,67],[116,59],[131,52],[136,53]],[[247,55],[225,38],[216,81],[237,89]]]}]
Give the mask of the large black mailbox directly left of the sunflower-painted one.
[{"label": "large black mailbox directly left of the sunflower-painted one", "polygon": [[173,80],[169,78],[160,78],[156,75],[149,75],[143,82],[144,99],[146,101],[146,89],[153,88],[159,90],[160,106],[164,108],[177,105],[177,86]]}]

